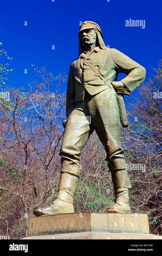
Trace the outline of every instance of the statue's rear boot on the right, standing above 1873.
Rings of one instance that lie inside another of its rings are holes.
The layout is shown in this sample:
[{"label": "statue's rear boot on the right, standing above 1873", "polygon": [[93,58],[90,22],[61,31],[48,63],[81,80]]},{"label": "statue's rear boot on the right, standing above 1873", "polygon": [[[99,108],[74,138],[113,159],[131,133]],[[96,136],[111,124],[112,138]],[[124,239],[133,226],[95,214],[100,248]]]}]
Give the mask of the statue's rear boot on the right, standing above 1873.
[{"label": "statue's rear boot on the right, standing above 1873", "polygon": [[107,212],[110,213],[129,213],[128,189],[131,188],[129,175],[126,170],[111,170],[111,177],[115,191],[115,204],[109,206]]}]

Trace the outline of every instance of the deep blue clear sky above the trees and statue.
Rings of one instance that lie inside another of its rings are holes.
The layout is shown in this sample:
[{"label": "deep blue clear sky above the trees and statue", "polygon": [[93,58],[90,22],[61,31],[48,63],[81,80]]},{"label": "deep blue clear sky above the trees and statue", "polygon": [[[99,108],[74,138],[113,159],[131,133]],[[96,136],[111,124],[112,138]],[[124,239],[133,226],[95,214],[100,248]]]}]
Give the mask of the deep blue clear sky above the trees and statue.
[{"label": "deep blue clear sky above the trees and statue", "polygon": [[[161,58],[161,9],[158,0],[3,1],[0,41],[13,57],[10,68],[15,69],[8,84],[26,87],[28,81],[35,79],[31,64],[45,66],[55,75],[68,74],[70,62],[78,58],[79,23],[86,20],[100,25],[106,45],[143,65],[148,78]],[[129,19],[145,20],[145,29],[126,27],[125,20]]]}]

